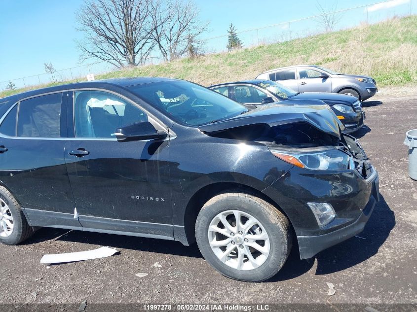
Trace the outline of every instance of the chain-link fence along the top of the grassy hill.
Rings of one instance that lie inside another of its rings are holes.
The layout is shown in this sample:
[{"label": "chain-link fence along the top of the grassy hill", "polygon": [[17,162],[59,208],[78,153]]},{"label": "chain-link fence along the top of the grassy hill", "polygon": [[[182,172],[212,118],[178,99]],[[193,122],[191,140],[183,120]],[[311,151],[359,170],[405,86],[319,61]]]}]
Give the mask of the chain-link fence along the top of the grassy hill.
[{"label": "chain-link fence along the top of the grassy hill", "polygon": [[[326,17],[332,17],[336,21],[332,25],[331,31],[338,31],[361,24],[374,24],[389,18],[412,14],[417,14],[417,0],[388,0],[244,30],[237,32],[237,35],[244,47],[250,47],[324,33],[326,31],[324,27]],[[206,38],[204,42],[203,50],[205,53],[219,53],[227,50],[227,34]],[[147,60],[146,65],[161,62],[162,58],[155,51]],[[9,83],[12,83],[14,88],[39,87],[51,83],[61,83],[63,81],[87,80],[88,74],[97,76],[113,70],[115,70],[114,66],[108,62],[99,61],[68,69],[56,70],[52,74],[39,73],[32,76],[0,81],[0,91],[9,89]]]}]

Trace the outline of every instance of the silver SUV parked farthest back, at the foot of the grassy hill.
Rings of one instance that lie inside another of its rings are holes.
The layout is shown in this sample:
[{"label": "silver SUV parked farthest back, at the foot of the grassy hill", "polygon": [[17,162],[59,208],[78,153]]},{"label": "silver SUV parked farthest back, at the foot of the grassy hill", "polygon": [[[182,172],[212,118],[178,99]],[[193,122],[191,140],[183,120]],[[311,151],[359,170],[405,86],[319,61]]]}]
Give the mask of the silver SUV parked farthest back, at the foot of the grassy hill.
[{"label": "silver SUV parked farthest back, at the foot of the grassy hill", "polygon": [[365,101],[374,96],[378,88],[369,76],[347,75],[320,66],[290,66],[271,69],[256,79],[268,79],[298,92],[333,92],[347,94]]}]

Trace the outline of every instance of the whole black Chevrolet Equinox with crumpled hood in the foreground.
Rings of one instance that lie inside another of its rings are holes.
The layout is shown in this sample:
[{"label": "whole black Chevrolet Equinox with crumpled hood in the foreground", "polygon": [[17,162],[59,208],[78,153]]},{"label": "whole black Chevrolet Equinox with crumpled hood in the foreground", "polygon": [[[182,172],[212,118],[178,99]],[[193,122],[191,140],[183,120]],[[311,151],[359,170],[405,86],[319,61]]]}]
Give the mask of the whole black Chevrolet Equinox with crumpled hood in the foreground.
[{"label": "whole black Chevrolet Equinox with crumpled hood in the foreground", "polygon": [[[293,106],[293,107],[291,107]],[[164,78],[0,100],[0,241],[57,227],[197,242],[227,277],[275,275],[361,232],[378,173],[327,105],[248,110]]]}]

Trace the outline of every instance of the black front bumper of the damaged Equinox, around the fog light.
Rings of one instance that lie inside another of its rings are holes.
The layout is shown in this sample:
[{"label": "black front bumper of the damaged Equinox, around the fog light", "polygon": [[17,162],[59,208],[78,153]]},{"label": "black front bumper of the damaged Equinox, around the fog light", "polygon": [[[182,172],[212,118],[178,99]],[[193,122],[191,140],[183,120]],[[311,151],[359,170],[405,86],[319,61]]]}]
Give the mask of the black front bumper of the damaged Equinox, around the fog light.
[{"label": "black front bumper of the damaged Equinox, around the fog light", "polygon": [[[290,219],[301,259],[362,232],[379,201],[378,172],[370,168],[372,173],[364,178],[357,170],[320,173],[294,167],[264,190]],[[319,227],[309,202],[331,204],[336,217]]]}]

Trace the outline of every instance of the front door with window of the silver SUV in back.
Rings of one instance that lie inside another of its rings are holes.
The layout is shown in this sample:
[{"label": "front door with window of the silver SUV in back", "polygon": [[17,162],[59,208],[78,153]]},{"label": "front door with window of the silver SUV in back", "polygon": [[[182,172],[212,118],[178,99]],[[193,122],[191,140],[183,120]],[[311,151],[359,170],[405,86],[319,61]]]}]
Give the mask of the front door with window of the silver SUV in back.
[{"label": "front door with window of the silver SUV in back", "polygon": [[299,92],[332,92],[332,78],[320,78],[324,72],[311,68],[299,68],[298,74]]}]

